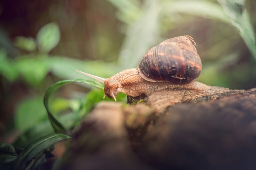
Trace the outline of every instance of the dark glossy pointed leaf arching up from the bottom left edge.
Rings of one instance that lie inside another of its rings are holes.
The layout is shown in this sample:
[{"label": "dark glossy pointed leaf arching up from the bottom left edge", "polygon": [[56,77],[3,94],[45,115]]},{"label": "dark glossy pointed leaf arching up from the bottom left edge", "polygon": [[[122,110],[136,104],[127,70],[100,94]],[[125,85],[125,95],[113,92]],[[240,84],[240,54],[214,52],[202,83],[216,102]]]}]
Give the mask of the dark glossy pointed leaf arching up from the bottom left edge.
[{"label": "dark glossy pointed leaf arching up from the bottom left edge", "polygon": [[33,159],[37,154],[42,152],[47,147],[50,147],[55,142],[58,142],[63,139],[71,138],[68,135],[64,134],[50,134],[47,136],[40,137],[30,143],[24,151],[17,157],[11,166],[12,170],[24,169],[27,164]]}]

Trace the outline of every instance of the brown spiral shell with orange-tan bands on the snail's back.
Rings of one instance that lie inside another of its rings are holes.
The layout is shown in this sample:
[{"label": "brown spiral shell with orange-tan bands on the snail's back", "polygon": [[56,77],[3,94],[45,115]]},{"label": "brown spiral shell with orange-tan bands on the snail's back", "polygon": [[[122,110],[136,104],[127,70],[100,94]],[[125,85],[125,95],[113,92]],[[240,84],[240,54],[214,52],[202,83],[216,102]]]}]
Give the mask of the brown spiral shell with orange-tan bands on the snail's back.
[{"label": "brown spiral shell with orange-tan bands on the snail's back", "polygon": [[194,44],[190,36],[165,40],[144,55],[137,71],[148,81],[190,83],[202,70],[201,59]]}]

